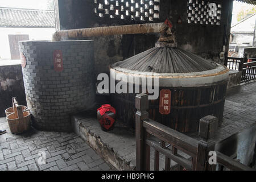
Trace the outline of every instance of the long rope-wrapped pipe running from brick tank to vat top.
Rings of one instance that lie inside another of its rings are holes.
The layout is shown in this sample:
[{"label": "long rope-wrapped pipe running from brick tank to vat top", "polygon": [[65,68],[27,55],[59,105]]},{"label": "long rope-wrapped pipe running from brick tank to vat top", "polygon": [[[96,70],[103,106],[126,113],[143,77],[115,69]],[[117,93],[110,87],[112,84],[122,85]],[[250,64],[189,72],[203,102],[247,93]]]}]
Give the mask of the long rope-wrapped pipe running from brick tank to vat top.
[{"label": "long rope-wrapped pipe running from brick tank to vat top", "polygon": [[111,27],[95,27],[95,28],[81,28],[73,30],[56,31],[52,36],[52,41],[59,41],[62,38],[85,38],[92,36],[108,36],[108,35],[124,35],[124,34],[148,34],[159,33],[163,27],[167,25],[164,23],[146,23],[146,24],[131,24],[124,26]]}]

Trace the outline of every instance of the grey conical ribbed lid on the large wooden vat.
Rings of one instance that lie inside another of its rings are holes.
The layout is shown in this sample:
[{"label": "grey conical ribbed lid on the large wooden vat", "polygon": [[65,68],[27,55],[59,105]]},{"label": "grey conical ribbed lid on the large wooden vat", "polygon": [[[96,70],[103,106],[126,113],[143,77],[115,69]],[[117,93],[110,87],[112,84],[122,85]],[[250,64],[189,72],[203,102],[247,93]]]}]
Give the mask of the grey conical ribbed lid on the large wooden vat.
[{"label": "grey conical ribbed lid on the large wooden vat", "polygon": [[217,64],[179,48],[154,47],[113,64],[112,68],[115,67],[140,72],[192,73],[215,69]]}]

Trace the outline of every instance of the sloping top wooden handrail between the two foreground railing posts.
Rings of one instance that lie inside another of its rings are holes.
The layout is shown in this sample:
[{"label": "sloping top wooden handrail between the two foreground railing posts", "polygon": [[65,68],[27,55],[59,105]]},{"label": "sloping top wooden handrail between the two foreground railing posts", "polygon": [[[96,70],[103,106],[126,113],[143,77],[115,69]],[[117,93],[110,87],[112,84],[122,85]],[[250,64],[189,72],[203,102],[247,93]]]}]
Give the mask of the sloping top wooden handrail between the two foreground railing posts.
[{"label": "sloping top wooden handrail between the two foreground railing posts", "polygon": [[196,155],[198,144],[196,139],[179,133],[178,131],[155,122],[152,119],[148,119],[148,121],[143,120],[142,126],[146,128],[147,133],[154,135],[164,142],[174,145],[176,148],[189,155]]}]

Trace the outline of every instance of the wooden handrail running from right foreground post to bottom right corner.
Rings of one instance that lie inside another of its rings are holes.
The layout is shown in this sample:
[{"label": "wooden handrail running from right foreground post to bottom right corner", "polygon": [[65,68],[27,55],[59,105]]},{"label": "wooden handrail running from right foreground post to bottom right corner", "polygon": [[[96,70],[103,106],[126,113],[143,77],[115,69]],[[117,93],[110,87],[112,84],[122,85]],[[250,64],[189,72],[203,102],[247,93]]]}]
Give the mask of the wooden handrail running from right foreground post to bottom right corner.
[{"label": "wooden handrail running from right foreground post to bottom right corner", "polygon": [[216,151],[216,154],[217,163],[221,164],[222,166],[225,166],[226,168],[229,168],[234,171],[255,171],[255,169],[250,168],[240,162],[237,162],[236,160],[230,158],[229,156],[226,156],[225,154],[222,154],[221,152]]}]

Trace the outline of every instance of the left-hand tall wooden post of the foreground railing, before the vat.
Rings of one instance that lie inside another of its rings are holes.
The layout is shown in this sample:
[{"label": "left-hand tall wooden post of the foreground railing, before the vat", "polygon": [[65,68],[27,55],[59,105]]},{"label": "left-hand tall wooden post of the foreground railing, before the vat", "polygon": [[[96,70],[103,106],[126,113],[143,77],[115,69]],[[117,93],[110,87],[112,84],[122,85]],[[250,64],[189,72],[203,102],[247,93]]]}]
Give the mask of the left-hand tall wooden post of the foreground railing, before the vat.
[{"label": "left-hand tall wooden post of the foreground railing, before the vat", "polygon": [[[148,155],[145,155],[146,149],[148,149],[148,147],[146,147],[146,134],[145,131],[142,127],[142,120],[143,119],[148,119],[148,113],[147,113],[147,109],[148,109],[148,96],[147,94],[137,94],[136,98],[135,98],[135,107],[137,109],[136,112],[136,170],[137,171],[143,171],[147,169],[146,163],[148,163],[146,161],[146,158],[148,157]],[[150,155],[150,154],[149,154]]]}]

